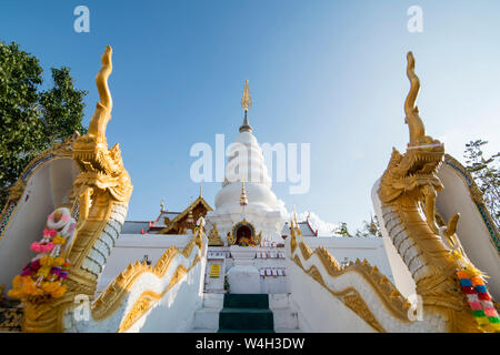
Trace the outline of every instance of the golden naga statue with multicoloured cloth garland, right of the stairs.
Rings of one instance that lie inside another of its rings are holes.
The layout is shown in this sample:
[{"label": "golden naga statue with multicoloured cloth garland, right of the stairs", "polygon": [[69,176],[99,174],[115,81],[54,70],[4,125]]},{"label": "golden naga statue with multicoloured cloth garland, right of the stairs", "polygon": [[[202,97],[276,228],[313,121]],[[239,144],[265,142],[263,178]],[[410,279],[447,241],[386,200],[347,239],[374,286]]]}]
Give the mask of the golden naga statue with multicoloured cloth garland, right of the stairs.
[{"label": "golden naga statue with multicoloured cloth garland, right of the stairs", "polygon": [[436,222],[436,197],[442,189],[437,170],[444,156],[444,145],[426,135],[414,106],[420,81],[412,53],[407,58],[411,88],[404,112],[410,142],[404,154],[393,149],[380,180],[378,195],[384,225],[416,282],[417,294],[422,296],[424,314],[444,318],[448,332],[481,332],[457,272],[467,268],[474,275],[481,273],[468,260],[456,234],[459,215],[441,227]]}]

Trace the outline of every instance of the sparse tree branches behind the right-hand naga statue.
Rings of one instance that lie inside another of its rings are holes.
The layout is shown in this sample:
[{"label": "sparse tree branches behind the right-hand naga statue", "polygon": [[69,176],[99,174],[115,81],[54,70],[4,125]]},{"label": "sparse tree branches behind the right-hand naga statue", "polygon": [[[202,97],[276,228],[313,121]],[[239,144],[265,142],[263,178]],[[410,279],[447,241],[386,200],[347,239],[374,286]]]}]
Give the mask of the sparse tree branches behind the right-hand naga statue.
[{"label": "sparse tree branches behind the right-hand naga statue", "polygon": [[500,152],[486,158],[482,146],[488,141],[477,140],[466,144],[463,156],[466,168],[483,194],[484,205],[489,210],[497,229],[500,229]]}]

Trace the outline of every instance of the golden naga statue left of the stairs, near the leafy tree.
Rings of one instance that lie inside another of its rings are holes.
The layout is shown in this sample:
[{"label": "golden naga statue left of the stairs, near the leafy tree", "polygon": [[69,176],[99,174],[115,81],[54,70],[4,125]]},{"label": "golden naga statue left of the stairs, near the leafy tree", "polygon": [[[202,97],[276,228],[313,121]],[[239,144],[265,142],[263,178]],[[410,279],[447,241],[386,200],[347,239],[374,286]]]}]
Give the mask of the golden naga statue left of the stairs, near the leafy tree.
[{"label": "golden naga statue left of the stairs, near the leafy tree", "polygon": [[90,121],[89,133],[73,142],[72,158],[80,168],[73,182],[77,194],[73,211],[78,211],[79,217],[73,241],[64,253],[71,263],[64,282],[68,291],[63,297],[47,303],[26,302],[24,332],[62,332],[74,297],[87,295],[93,298],[99,274],[119,236],[117,226],[123,224],[127,215],[132,184],[123,168],[118,143],[109,150],[106,140],[112,109],[108,88],[112,71],[111,53],[108,45],[96,78],[100,102]]}]

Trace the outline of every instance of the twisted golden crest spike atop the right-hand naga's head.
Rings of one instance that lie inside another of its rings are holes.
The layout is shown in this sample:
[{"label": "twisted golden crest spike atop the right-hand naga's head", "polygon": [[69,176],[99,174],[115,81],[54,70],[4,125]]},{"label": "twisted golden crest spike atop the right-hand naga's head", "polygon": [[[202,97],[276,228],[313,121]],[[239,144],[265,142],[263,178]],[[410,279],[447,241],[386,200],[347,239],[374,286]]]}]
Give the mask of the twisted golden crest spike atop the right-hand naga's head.
[{"label": "twisted golden crest spike atop the right-hand naga's head", "polygon": [[410,130],[409,145],[419,145],[420,140],[426,136],[426,128],[419,116],[419,109],[414,105],[414,101],[417,100],[420,90],[420,80],[414,73],[414,58],[412,52],[408,52],[407,60],[407,75],[411,87],[407,100],[404,101],[404,113],[407,115],[404,118],[404,123],[408,124]]}]

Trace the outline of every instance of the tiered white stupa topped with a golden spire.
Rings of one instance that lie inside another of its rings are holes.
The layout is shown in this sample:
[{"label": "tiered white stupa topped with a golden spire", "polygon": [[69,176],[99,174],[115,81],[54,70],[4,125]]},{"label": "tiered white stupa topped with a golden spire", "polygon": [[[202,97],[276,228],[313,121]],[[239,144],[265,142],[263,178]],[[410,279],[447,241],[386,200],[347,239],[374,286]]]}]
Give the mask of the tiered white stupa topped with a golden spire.
[{"label": "tiered white stupa topped with a golden spire", "polygon": [[[271,178],[264,164],[262,150],[248,121],[252,102],[248,80],[244,84],[241,106],[244,111],[240,134],[230,148],[222,189],[216,195],[216,210],[207,214],[210,223],[217,223],[222,239],[232,232],[234,225],[246,220],[256,233],[262,232],[262,240],[281,242],[281,232],[287,210],[271,191]],[[247,203],[240,203],[242,184]]]}]

